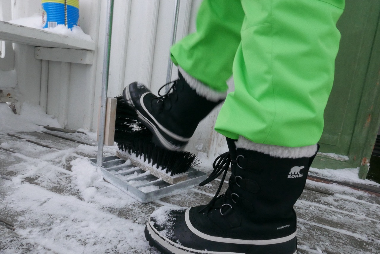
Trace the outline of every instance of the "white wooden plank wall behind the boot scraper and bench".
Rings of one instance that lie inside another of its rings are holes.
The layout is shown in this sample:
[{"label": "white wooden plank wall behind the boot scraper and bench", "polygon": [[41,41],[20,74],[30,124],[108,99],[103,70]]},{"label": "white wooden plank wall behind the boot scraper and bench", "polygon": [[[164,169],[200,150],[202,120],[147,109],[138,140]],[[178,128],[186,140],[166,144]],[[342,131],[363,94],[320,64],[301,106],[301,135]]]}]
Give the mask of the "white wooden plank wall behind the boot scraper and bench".
[{"label": "white wooden plank wall behind the boot scraper and bench", "polygon": [[[108,96],[119,95],[125,85],[134,81],[145,83],[154,93],[166,83],[174,2],[115,0]],[[195,30],[200,2],[180,0],[176,40]],[[80,27],[97,45],[92,65],[38,60],[34,46],[14,44],[17,99],[40,105],[65,128],[97,128],[106,4],[106,0],[80,0]],[[41,13],[40,6],[40,0],[1,0],[0,8],[11,8],[11,15],[2,14],[0,19],[32,16]],[[2,76],[12,75],[4,73]],[[175,67],[172,77],[177,77]],[[208,155],[210,159],[226,150],[223,137],[213,130],[217,112],[199,125],[187,150],[201,152],[199,155]]]}]

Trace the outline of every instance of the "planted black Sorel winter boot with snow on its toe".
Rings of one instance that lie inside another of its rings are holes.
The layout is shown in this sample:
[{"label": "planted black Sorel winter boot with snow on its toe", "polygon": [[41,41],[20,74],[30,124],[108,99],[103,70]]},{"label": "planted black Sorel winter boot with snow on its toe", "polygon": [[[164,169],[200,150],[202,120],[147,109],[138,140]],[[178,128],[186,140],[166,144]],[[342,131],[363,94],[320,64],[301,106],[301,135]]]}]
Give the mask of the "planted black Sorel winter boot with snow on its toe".
[{"label": "planted black Sorel winter boot with snow on its toe", "polygon": [[293,205],[304,189],[317,145],[308,148],[308,157],[278,158],[236,149],[234,141],[227,139],[230,152],[215,160],[214,171],[201,183],[224,172],[222,185],[231,163],[226,193],[217,197],[220,185],[208,205],[152,213],[145,228],[151,246],[163,254],[296,253]]}]

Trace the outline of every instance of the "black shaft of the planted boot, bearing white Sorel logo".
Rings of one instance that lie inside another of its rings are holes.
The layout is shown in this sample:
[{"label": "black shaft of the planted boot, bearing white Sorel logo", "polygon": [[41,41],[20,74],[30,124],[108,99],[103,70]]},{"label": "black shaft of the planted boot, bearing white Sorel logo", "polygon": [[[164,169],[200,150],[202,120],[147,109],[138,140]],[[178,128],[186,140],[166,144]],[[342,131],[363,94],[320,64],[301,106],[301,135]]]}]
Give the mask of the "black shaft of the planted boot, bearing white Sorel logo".
[{"label": "black shaft of the planted boot, bearing white Sorel logo", "polygon": [[[249,211],[254,221],[294,216],[293,205],[305,187],[314,158],[278,158],[258,151],[234,149],[231,153],[231,192],[239,197],[236,204]],[[240,186],[240,187],[239,187]]]}]

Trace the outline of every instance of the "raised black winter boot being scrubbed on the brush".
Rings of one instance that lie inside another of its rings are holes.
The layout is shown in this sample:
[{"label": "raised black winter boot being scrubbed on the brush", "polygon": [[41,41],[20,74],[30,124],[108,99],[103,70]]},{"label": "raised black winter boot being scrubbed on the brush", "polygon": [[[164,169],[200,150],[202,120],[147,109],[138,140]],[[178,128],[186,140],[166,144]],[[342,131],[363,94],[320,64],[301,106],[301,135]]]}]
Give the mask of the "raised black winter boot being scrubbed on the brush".
[{"label": "raised black winter boot being scrubbed on the brush", "polygon": [[198,123],[226,97],[226,93],[211,90],[182,73],[186,78],[179,71],[179,79],[163,96],[155,96],[137,82],[131,83],[123,91],[123,97],[131,99],[139,119],[153,133],[152,141],[169,150],[183,148],[193,136]]}]

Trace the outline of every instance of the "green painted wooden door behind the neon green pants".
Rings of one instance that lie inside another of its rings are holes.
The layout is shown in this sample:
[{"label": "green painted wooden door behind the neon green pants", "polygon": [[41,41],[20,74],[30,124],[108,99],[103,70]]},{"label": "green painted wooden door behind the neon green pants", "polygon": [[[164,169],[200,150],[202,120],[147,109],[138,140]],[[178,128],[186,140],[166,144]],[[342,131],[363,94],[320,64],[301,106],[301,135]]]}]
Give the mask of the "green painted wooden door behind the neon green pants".
[{"label": "green painted wooden door behind the neon green pants", "polygon": [[380,1],[346,0],[317,168],[360,167],[365,178],[380,125]]}]

